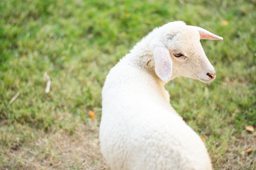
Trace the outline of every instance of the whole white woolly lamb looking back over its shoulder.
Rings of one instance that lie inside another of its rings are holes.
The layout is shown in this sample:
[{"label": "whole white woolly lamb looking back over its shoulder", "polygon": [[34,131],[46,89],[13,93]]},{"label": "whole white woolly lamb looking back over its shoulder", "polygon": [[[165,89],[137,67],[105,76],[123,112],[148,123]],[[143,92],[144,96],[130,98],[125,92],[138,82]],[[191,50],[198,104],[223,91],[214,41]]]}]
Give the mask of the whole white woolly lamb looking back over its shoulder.
[{"label": "whole white woolly lamb looking back over its shoulder", "polygon": [[172,22],[154,29],[109,72],[102,91],[100,142],[111,169],[212,169],[207,149],[169,103],[177,76],[210,82],[215,70],[202,28]]}]

